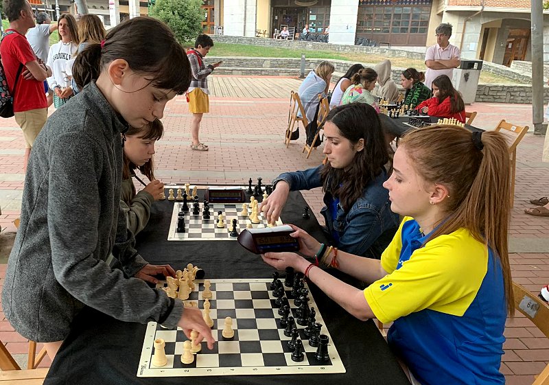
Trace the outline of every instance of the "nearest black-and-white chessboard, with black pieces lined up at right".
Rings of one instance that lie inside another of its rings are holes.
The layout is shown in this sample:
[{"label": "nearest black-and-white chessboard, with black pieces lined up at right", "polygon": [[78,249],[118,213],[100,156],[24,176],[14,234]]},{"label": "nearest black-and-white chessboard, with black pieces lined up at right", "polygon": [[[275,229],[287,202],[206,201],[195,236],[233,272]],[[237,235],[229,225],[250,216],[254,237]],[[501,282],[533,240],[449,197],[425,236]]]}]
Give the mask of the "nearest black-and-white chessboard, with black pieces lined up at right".
[{"label": "nearest black-and-white chessboard, with black pieces lined up at right", "polygon": [[[163,329],[155,322],[148,323],[141,359],[139,360],[138,377],[178,377],[205,375],[288,375],[312,373],[345,373],[340,355],[334,346],[329,331],[320,312],[316,312],[316,323],[322,325],[320,334],[328,336],[327,362],[318,362],[315,358],[316,348],[309,346],[309,338],[305,335],[305,326],[296,325],[299,337],[305,348],[303,361],[294,362],[291,358],[292,349],[288,342],[292,340],[284,334],[281,326],[279,309],[274,307],[275,297],[270,290],[270,279],[211,279],[210,317],[213,320],[212,335],[216,342],[213,350],[207,349],[202,342],[202,350],[196,353],[194,362],[183,364],[180,360],[183,354],[183,342],[188,338],[183,330]],[[300,280],[303,282],[302,280]],[[204,288],[203,280],[194,281],[195,288],[191,292],[190,301],[203,309],[204,301],[199,294]],[[159,283],[158,288],[165,286]],[[288,298],[291,314],[296,317],[296,305],[292,296],[292,288],[282,286]],[[307,283],[304,283],[307,289]],[[318,307],[308,293],[309,307]],[[176,301],[180,301],[176,299]],[[233,318],[234,337],[226,339],[222,336],[224,318]],[[297,319],[297,318],[296,318]],[[317,327],[319,327],[317,325]],[[318,330],[317,330],[318,333]],[[152,365],[154,355],[154,340],[165,341],[167,364],[156,367]],[[322,338],[322,337],[321,337]]]}]

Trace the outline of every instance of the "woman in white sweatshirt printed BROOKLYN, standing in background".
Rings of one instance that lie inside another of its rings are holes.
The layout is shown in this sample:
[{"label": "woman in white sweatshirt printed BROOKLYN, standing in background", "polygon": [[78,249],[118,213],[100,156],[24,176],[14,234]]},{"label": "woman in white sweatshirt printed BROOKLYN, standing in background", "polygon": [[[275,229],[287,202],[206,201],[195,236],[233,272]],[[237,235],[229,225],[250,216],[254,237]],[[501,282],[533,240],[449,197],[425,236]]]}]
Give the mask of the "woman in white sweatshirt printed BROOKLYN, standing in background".
[{"label": "woman in white sweatshirt printed BROOKLYN, standing in background", "polygon": [[66,69],[67,62],[76,54],[78,30],[71,14],[62,14],[57,23],[61,40],[49,47],[47,65],[51,68],[51,77],[47,78],[47,84],[54,90],[54,106],[59,108],[73,95]]}]

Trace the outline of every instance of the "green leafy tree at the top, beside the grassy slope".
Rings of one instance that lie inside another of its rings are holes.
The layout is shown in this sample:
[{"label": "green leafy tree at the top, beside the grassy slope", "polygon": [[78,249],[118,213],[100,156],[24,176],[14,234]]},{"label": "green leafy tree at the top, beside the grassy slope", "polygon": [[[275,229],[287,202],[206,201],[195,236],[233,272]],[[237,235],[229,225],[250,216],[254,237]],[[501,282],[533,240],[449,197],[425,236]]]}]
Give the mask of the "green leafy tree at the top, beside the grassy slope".
[{"label": "green leafy tree at the top, beside the grassy slope", "polygon": [[169,25],[180,43],[194,42],[202,33],[201,4],[201,0],[156,0],[150,6],[150,16]]}]

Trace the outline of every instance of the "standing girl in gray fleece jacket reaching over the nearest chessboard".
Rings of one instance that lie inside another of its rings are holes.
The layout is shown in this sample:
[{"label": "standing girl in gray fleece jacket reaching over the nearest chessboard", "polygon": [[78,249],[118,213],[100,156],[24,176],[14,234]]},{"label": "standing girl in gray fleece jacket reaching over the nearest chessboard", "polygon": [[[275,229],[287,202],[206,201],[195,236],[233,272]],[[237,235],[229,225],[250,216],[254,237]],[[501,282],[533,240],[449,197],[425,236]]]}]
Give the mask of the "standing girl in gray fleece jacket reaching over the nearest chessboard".
[{"label": "standing girl in gray fleece jacket reaching over the nearest chessboard", "polygon": [[197,330],[211,349],[200,310],[183,310],[145,283],[174,270],[137,253],[120,208],[121,136],[161,118],[187,90],[185,51],[163,23],[138,17],[78,55],[73,75],[84,90],[49,117],[32,149],[3,286],[6,318],[25,338],[47,342],[52,359],[85,305],[126,322],[179,326],[187,336]]}]

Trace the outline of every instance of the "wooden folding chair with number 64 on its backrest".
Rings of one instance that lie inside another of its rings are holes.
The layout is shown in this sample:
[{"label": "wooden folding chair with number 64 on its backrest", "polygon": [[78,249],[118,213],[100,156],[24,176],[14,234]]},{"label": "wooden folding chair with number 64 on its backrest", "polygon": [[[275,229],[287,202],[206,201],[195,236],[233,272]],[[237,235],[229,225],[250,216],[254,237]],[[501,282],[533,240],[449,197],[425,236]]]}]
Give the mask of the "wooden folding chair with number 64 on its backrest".
[{"label": "wooden folding chair with number 64 on its backrest", "polygon": [[[547,303],[515,282],[513,282],[513,294],[515,294],[515,309],[531,320],[541,333],[549,337],[549,306]],[[549,385],[549,365],[541,371],[532,385]]]}]

